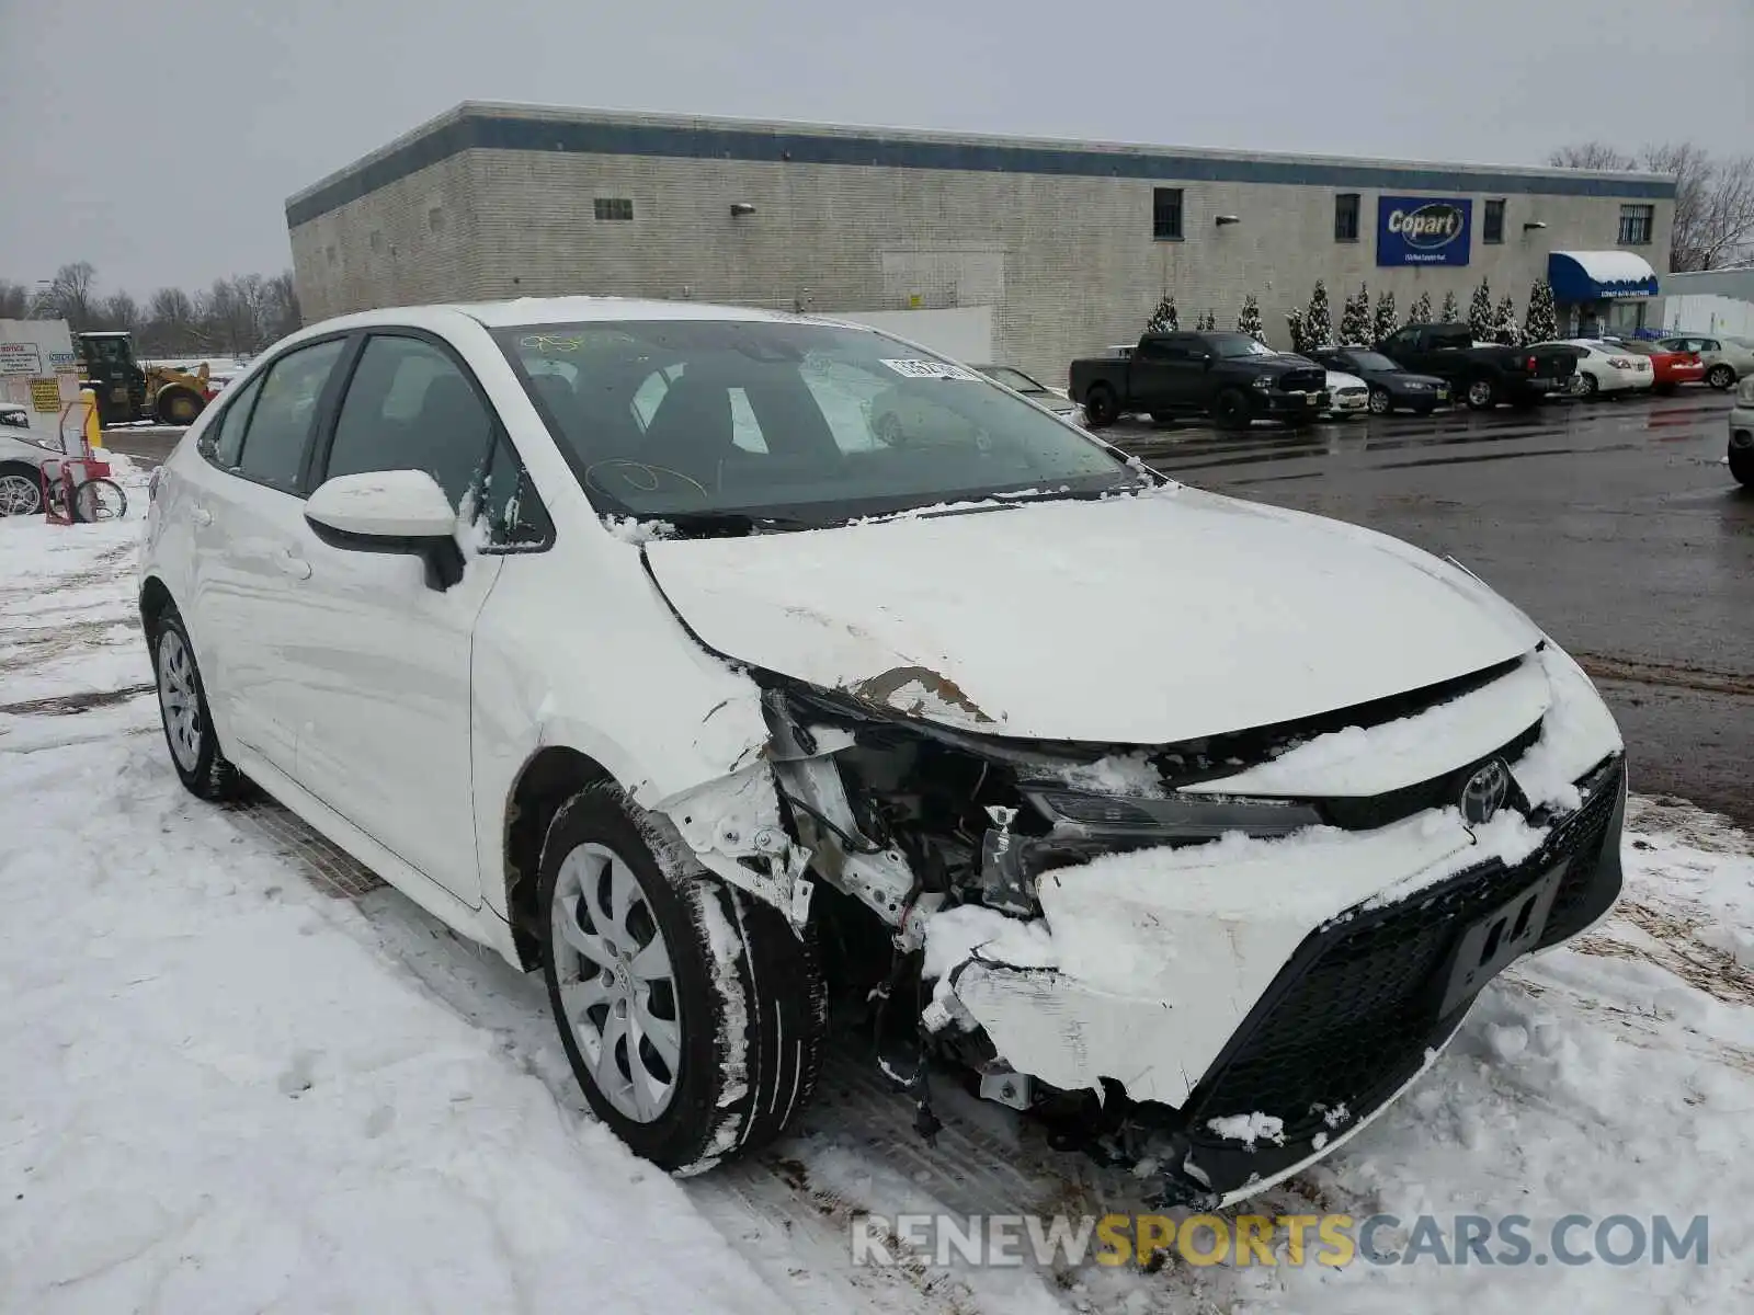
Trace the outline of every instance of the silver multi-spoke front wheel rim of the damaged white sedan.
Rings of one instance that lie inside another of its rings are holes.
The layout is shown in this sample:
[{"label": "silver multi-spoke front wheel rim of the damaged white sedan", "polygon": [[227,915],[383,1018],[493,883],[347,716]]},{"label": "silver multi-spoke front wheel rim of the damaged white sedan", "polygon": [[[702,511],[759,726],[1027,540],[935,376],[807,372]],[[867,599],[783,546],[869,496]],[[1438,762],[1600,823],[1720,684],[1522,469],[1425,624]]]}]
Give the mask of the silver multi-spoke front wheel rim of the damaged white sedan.
[{"label": "silver multi-spoke front wheel rim of the damaged white sedan", "polygon": [[681,1077],[675,966],[626,859],[584,843],[561,859],[549,910],[563,1026],[596,1089],[640,1124],[670,1106]]}]

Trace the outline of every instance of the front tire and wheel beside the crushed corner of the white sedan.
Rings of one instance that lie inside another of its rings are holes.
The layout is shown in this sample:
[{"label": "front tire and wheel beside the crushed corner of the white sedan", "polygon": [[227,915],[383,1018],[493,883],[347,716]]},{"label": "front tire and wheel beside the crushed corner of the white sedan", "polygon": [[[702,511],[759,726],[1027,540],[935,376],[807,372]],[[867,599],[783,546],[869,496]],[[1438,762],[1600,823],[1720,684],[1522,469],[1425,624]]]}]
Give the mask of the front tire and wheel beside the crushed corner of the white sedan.
[{"label": "front tire and wheel beside the crushed corner of the white sedan", "polygon": [[544,978],[586,1099],[628,1147],[698,1173],[779,1136],[816,1087],[812,936],[688,856],[614,784],[542,842]]}]

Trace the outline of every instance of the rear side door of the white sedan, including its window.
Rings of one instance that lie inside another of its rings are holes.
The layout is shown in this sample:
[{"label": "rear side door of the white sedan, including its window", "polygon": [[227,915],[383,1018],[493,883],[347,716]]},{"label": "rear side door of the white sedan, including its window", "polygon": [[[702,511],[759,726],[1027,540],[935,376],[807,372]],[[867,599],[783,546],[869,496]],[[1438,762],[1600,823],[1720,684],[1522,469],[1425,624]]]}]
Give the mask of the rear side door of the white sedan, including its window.
[{"label": "rear side door of the white sedan, including its window", "polygon": [[295,586],[303,556],[305,461],[333,400],[346,338],[300,344],[226,403],[209,426],[212,470],[191,491],[191,615],[209,700],[226,733],[293,773],[296,726],[289,677],[298,661]]}]

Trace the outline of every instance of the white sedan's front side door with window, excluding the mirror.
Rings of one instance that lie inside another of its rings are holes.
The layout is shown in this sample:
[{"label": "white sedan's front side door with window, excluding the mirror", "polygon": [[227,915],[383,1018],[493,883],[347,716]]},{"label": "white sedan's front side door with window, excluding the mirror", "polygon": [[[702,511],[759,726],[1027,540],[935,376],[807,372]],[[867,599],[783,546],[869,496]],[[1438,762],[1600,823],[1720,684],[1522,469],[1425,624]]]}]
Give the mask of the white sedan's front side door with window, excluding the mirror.
[{"label": "white sedan's front side door with window, excluding the mirror", "polygon": [[[312,486],[424,470],[461,505],[495,417],[435,338],[375,333],[354,365]],[[319,444],[321,445],[321,444]],[[470,770],[470,652],[502,558],[468,554],[428,587],[419,558],[330,547],[305,528],[307,624],[293,654],[298,782],[409,866],[481,903]]]}]

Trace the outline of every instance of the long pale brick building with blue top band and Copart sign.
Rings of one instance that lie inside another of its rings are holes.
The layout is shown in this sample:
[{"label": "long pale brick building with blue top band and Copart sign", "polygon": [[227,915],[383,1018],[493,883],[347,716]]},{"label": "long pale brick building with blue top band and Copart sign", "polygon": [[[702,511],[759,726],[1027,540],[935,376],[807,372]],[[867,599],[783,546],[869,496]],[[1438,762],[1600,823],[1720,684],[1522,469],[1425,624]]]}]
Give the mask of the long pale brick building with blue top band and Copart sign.
[{"label": "long pale brick building with blue top band and Copart sign", "polygon": [[[1338,319],[1361,282],[1403,314],[1421,291],[1466,310],[1482,275],[1521,312],[1554,251],[1665,270],[1673,193],[1642,174],[465,103],[300,191],[286,219],[307,321],[553,293],[991,307],[995,359],[1054,382],[1135,338],[1165,291],[1184,324],[1212,310],[1226,328],[1254,293],[1284,345],[1317,279]],[[1407,258],[1389,216],[1431,200],[1466,224],[1412,259],[1465,263],[1382,263]],[[1594,310],[1633,323],[1642,293],[1621,296]]]}]

